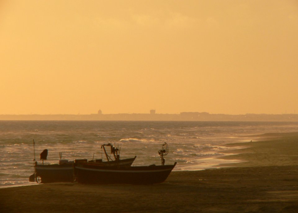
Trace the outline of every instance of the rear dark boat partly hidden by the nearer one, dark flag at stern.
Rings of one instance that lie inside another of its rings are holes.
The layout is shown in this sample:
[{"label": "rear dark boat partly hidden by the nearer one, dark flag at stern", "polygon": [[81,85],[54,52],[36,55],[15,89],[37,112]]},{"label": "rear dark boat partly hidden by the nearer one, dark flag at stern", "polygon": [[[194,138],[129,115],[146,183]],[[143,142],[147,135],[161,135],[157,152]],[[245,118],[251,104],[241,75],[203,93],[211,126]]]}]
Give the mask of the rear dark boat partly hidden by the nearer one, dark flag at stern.
[{"label": "rear dark boat partly hidden by the nearer one, dark flag at stern", "polygon": [[[113,154],[114,160],[107,154],[105,146],[111,146],[111,154]],[[131,166],[133,161],[136,159],[135,156],[134,158],[120,160],[120,149],[115,148],[112,144],[104,144],[102,145],[102,148],[104,149],[107,161],[102,161],[102,159],[90,161],[87,159],[81,159],[77,161],[103,167],[128,167]],[[47,149],[45,149],[40,154],[40,160],[42,162],[38,162],[38,160],[35,160],[34,157],[34,174],[30,175],[29,181],[36,181],[37,183],[74,182],[74,161],[62,160],[62,153],[60,152],[59,164],[44,164],[44,160],[47,160],[47,152]]]}]

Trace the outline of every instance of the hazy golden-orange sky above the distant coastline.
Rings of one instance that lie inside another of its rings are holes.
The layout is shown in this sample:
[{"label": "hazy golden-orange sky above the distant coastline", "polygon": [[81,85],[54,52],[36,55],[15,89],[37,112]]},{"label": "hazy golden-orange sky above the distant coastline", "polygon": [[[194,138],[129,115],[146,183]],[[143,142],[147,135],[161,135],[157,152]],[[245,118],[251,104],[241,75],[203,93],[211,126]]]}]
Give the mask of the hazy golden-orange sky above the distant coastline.
[{"label": "hazy golden-orange sky above the distant coastline", "polygon": [[0,114],[298,113],[297,0],[0,0]]}]

